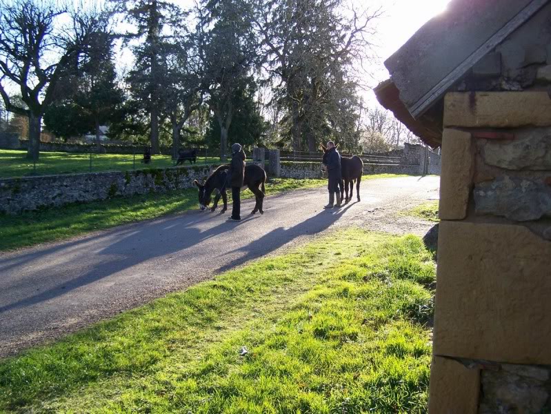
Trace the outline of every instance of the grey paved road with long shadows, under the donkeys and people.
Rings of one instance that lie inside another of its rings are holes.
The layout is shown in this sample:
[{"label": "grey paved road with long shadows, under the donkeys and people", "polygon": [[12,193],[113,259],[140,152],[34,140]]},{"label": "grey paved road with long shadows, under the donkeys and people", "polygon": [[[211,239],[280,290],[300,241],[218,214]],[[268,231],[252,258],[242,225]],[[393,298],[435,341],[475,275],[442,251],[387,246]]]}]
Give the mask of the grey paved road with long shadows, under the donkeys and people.
[{"label": "grey paved road with long shadows, under the donkeys and people", "polygon": [[[398,210],[438,197],[438,177],[364,181],[362,201],[323,210],[326,190],[267,197],[263,216],[228,223],[191,211],[68,242],[0,253],[0,357],[186,288],[334,226],[422,233]],[[243,203],[252,210],[253,201]]]}]

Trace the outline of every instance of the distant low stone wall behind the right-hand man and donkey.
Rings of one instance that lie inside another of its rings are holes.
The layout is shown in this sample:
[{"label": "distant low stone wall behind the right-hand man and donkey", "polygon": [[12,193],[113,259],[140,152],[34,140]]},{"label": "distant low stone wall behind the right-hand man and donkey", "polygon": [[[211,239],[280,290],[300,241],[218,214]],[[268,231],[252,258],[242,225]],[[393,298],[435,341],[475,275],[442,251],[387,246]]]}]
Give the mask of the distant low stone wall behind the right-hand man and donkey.
[{"label": "distant low stone wall behind the right-hand man and donkey", "polygon": [[[409,174],[419,175],[422,167],[419,165],[364,164],[364,174]],[[432,172],[431,172],[432,173]],[[281,162],[279,177],[282,178],[323,178],[319,162]]]}]

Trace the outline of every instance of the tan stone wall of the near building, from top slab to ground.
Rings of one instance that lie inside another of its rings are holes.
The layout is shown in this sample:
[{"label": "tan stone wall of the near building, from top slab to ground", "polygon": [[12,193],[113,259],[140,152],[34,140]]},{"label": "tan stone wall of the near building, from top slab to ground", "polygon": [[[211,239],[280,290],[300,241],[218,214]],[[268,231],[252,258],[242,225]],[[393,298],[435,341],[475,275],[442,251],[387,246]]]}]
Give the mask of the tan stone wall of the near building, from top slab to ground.
[{"label": "tan stone wall of the near building, from top slab to ground", "polygon": [[551,99],[444,100],[429,412],[551,408]]}]

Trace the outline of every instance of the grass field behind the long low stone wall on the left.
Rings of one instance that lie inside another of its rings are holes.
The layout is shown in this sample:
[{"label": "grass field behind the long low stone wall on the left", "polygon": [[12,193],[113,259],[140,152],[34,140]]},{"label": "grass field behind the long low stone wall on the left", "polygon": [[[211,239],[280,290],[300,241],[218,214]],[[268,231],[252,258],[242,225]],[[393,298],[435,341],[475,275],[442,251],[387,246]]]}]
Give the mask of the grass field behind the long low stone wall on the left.
[{"label": "grass field behind the long low stone wall on the left", "polygon": [[[27,175],[70,174],[90,172],[90,154],[67,152],[41,152],[36,172],[31,161],[25,158],[26,151],[0,150],[0,178],[25,177]],[[150,164],[141,164],[142,154],[136,155],[135,169],[172,167],[170,155],[153,155]],[[199,157],[197,164],[219,164],[216,157]],[[188,162],[185,165],[189,165]],[[133,170],[132,154],[92,154],[92,172]]]}]

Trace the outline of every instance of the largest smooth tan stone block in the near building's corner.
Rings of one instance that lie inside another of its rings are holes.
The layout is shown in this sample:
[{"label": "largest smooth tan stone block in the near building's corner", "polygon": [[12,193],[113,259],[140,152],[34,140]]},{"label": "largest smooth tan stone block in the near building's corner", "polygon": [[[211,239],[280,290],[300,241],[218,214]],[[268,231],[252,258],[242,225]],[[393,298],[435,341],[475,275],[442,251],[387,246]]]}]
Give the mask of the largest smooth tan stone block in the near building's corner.
[{"label": "largest smooth tan stone block in the near building's corner", "polygon": [[439,227],[434,353],[551,364],[551,242],[517,224]]}]

